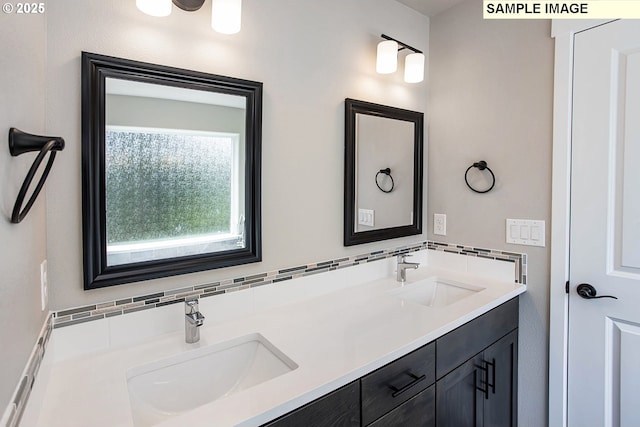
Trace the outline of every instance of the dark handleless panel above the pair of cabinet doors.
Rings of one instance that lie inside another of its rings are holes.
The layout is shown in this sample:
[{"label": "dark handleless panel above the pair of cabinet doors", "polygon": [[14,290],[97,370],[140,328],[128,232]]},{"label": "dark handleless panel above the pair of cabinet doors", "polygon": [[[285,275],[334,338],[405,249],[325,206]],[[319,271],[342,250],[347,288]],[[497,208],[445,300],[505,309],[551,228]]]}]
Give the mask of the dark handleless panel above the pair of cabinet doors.
[{"label": "dark handleless panel above the pair of cabinet doors", "polygon": [[517,327],[516,297],[438,338],[436,377],[442,378]]}]

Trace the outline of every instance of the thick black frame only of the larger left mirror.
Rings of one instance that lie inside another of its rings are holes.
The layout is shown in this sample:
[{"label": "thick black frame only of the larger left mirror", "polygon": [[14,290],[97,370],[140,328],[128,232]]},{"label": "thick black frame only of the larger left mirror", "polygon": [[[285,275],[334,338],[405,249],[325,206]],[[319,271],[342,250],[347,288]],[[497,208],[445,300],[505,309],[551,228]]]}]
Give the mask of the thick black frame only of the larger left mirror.
[{"label": "thick black frame only of the larger left mirror", "polygon": [[[246,98],[245,247],[107,266],[105,210],[105,81],[133,80]],[[82,235],[84,289],[211,270],[262,260],[262,83],[94,53],[82,53]]]}]

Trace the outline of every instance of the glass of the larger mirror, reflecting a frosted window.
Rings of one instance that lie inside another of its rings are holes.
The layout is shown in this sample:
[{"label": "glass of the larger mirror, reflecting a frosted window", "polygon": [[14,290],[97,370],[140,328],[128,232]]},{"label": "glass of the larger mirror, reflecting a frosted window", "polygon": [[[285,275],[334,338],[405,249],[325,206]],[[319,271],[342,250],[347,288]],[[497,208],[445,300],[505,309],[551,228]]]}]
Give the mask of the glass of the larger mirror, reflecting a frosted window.
[{"label": "glass of the larger mirror, reflecting a frosted window", "polygon": [[245,99],[108,78],[107,265],[244,247]]}]

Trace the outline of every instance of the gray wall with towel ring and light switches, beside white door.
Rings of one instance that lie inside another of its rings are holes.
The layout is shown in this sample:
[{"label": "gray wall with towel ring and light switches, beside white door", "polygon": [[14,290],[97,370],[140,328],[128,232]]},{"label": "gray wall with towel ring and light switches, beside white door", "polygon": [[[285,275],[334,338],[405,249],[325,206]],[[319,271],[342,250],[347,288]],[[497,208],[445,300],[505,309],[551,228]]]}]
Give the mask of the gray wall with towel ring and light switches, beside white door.
[{"label": "gray wall with towel ring and light switches, beside white door", "polygon": [[[482,2],[466,1],[431,19],[429,49],[429,237],[529,255],[520,306],[519,420],[544,426],[549,247],[505,243],[505,219],[545,220],[550,241],[550,23],[485,21]],[[466,168],[481,159],[497,177],[484,195],[464,182]],[[434,213],[447,214],[446,237],[432,234]]]}]

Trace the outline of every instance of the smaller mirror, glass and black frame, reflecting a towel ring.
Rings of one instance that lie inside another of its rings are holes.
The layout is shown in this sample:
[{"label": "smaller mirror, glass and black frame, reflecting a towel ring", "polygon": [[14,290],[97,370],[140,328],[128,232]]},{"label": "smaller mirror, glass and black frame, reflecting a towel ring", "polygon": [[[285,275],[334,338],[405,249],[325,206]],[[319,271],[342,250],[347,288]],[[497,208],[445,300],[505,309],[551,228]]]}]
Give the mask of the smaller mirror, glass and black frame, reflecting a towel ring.
[{"label": "smaller mirror, glass and black frame, reflecting a towel ring", "polygon": [[422,233],[423,122],[345,100],[345,246]]}]

